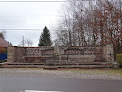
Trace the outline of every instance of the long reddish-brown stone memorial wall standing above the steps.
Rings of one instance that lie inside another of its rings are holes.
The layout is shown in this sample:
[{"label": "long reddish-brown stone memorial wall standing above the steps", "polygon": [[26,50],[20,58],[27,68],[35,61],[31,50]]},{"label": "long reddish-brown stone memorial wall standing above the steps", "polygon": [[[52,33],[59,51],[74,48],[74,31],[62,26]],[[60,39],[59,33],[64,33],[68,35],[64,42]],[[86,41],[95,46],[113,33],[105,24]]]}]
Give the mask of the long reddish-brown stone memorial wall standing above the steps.
[{"label": "long reddish-brown stone memorial wall standing above the steps", "polygon": [[[113,58],[111,45],[88,47],[8,47],[8,62],[83,63],[105,62]],[[109,55],[111,54],[111,55]]]}]

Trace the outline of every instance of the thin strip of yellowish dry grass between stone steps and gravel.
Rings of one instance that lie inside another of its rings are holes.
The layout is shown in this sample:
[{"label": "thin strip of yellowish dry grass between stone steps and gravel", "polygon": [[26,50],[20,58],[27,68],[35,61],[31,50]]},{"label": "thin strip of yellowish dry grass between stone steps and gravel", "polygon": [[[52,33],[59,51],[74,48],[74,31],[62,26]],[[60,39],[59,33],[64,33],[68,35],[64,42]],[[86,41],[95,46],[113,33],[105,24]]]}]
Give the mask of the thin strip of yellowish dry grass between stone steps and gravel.
[{"label": "thin strip of yellowish dry grass between stone steps and gravel", "polygon": [[[9,68],[9,69],[17,69],[17,70],[43,70],[42,68]],[[52,70],[46,70],[52,71]],[[54,71],[70,71],[75,73],[82,73],[82,74],[107,74],[107,75],[119,75],[122,76],[122,68],[120,69],[58,69]]]}]

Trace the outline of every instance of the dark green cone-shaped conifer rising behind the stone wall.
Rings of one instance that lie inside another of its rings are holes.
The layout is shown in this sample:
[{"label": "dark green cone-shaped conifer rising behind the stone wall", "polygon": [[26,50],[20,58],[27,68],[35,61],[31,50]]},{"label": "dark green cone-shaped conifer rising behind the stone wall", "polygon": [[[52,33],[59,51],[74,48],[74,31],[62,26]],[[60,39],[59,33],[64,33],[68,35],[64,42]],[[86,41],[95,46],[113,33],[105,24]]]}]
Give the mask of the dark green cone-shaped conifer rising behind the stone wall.
[{"label": "dark green cone-shaped conifer rising behind the stone wall", "polygon": [[40,36],[38,46],[51,46],[51,45],[52,41],[50,38],[50,32],[48,28],[45,26],[45,28],[43,29],[43,33]]}]

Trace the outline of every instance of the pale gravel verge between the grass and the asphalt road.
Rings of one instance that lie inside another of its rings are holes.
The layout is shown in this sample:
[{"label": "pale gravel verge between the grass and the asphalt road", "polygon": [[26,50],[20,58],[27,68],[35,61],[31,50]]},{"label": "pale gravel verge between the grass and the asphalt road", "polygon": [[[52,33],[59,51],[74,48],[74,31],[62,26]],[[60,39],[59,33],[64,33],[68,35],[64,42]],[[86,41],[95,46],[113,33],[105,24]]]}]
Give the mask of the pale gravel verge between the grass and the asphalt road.
[{"label": "pale gravel verge between the grass and the asphalt road", "polygon": [[43,70],[43,69],[9,69],[1,68],[0,76],[39,77],[39,78],[79,78],[79,79],[104,79],[122,80],[122,75],[96,74],[76,72],[72,70]]}]

